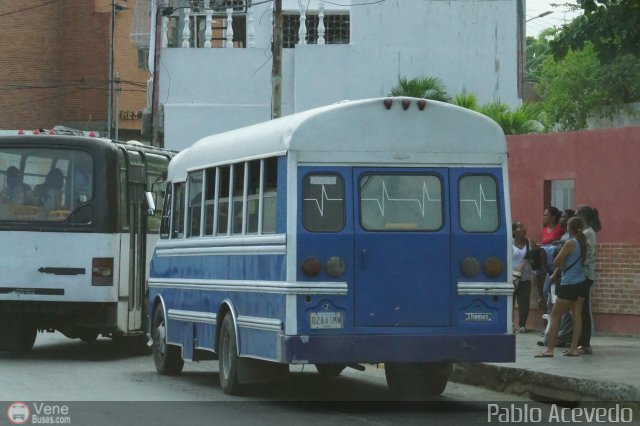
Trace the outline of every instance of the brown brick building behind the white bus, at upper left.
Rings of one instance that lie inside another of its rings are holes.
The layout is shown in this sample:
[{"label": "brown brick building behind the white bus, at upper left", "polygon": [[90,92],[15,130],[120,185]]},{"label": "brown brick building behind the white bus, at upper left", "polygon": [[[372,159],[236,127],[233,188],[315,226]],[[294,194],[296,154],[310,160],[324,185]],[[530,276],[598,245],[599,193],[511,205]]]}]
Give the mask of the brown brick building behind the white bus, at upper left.
[{"label": "brown brick building behind the white bus, at upper left", "polygon": [[[120,109],[146,104],[148,71],[138,69],[129,42],[135,0],[116,14],[114,71],[137,86],[122,85]],[[104,130],[109,96],[111,0],[24,0],[0,11],[0,129],[57,124]],[[116,114],[114,105],[114,116]],[[121,128],[140,133],[139,120]]]}]

